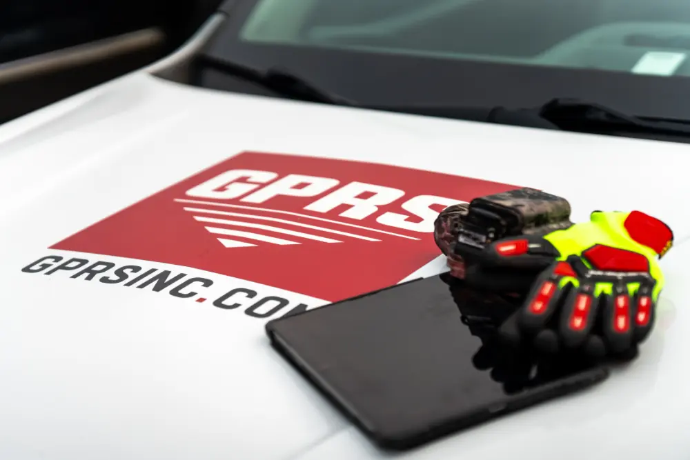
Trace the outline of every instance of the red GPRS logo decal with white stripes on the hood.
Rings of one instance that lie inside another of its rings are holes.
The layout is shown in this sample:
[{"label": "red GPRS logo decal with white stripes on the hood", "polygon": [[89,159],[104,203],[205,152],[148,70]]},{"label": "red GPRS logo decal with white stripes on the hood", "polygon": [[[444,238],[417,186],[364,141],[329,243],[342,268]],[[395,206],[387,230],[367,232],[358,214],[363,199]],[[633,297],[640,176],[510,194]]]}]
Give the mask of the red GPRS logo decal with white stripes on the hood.
[{"label": "red GPRS logo decal with white stripes on the hood", "polygon": [[52,246],[172,263],[326,301],[398,283],[440,255],[438,212],[516,186],[243,152]]}]

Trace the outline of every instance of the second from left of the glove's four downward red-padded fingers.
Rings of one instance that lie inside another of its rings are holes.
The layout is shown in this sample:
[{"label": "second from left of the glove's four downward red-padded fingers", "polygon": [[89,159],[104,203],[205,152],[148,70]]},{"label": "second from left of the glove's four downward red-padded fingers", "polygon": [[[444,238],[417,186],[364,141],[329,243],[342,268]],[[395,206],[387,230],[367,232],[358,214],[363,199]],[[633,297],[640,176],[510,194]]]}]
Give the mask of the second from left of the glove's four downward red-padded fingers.
[{"label": "second from left of the glove's four downward red-padded fingers", "polygon": [[594,297],[594,284],[582,282],[579,288],[571,289],[562,303],[558,333],[565,348],[578,348],[584,344],[598,310],[598,299]]}]

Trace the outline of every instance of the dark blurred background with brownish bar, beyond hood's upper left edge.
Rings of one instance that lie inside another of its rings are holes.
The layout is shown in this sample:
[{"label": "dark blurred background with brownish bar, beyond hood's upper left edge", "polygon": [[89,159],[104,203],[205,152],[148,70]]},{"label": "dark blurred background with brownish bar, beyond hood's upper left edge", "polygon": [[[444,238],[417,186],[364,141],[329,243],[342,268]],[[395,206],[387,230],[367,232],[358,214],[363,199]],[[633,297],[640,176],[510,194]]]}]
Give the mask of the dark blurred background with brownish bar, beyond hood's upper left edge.
[{"label": "dark blurred background with brownish bar, beyond hood's upper left edge", "polygon": [[219,3],[0,1],[0,123],[172,52]]}]

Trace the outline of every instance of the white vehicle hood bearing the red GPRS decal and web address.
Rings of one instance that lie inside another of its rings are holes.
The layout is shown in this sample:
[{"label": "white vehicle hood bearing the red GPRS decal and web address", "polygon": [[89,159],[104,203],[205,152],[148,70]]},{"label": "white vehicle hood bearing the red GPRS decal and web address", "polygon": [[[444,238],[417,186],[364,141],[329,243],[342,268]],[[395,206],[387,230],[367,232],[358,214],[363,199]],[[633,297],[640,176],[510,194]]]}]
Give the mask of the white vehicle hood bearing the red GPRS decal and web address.
[{"label": "white vehicle hood bearing the red GPRS decal and web address", "polygon": [[[686,459],[688,158],[146,74],[8,123],[0,458]],[[270,348],[266,321],[443,271],[429,216],[517,186],[566,197],[575,221],[638,209],[671,225],[655,331],[592,390],[377,450]]]}]

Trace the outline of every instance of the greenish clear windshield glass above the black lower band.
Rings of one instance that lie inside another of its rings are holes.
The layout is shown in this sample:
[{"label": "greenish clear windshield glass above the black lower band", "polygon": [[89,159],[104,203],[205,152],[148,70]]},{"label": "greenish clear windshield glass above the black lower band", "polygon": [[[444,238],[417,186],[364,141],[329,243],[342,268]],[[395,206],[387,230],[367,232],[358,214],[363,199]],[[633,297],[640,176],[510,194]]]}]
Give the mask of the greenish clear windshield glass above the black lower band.
[{"label": "greenish clear windshield glass above the black lower band", "polygon": [[262,0],[242,39],[690,75],[687,0]]}]

